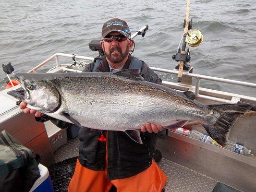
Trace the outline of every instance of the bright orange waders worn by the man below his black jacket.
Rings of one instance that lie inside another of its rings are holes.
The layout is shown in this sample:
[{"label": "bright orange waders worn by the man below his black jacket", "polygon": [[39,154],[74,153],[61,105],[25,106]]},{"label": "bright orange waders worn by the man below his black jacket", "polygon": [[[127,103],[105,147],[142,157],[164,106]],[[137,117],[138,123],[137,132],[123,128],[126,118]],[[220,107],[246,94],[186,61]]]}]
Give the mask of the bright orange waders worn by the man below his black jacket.
[{"label": "bright orange waders worn by the man below his black jacket", "polygon": [[104,171],[94,171],[83,167],[77,159],[68,192],[109,192],[112,185],[117,192],[161,192],[166,181],[166,175],[153,160],[149,168],[137,175],[109,181],[107,164]]}]

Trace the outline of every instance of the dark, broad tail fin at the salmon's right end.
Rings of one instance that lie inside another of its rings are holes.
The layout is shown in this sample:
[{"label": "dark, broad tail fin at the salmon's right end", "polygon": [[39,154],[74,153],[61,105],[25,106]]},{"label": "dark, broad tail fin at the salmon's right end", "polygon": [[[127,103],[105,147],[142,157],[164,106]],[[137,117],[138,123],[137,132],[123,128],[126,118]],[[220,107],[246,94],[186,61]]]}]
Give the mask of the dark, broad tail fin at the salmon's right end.
[{"label": "dark, broad tail fin at the salmon's right end", "polygon": [[250,104],[224,104],[208,105],[209,108],[219,112],[219,118],[214,124],[202,123],[207,133],[221,146],[227,143],[227,133],[236,120],[250,110]]}]

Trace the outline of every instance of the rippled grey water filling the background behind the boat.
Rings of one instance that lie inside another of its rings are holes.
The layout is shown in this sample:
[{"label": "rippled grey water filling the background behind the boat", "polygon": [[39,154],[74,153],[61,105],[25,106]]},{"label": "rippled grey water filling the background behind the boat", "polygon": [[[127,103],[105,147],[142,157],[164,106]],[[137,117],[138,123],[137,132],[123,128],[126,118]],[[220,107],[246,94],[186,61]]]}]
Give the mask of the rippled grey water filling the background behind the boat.
[{"label": "rippled grey water filling the background behind the boat", "polygon": [[[27,72],[57,52],[96,57],[88,43],[100,38],[105,21],[118,17],[132,33],[149,25],[145,37],[134,38],[134,56],[172,70],[185,12],[186,0],[0,0],[0,63],[10,61],[14,72]],[[190,18],[204,36],[202,45],[191,48],[194,73],[256,83],[255,0],[191,0]],[[176,81],[170,74],[159,75]],[[0,70],[0,89],[6,81]],[[255,88],[211,81],[200,85],[256,96]]]}]

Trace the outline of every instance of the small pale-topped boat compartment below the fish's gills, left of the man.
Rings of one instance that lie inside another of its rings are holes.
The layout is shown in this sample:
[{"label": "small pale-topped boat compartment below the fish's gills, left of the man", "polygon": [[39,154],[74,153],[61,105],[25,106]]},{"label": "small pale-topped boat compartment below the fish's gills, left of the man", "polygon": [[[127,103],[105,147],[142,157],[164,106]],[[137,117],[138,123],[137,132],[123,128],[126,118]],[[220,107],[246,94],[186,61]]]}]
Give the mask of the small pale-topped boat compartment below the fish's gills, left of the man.
[{"label": "small pale-topped boat compartment below the fish's gills, left of the man", "polygon": [[66,129],[60,129],[59,127],[54,125],[50,120],[45,122],[45,128],[53,153],[63,144],[67,143],[68,139]]}]

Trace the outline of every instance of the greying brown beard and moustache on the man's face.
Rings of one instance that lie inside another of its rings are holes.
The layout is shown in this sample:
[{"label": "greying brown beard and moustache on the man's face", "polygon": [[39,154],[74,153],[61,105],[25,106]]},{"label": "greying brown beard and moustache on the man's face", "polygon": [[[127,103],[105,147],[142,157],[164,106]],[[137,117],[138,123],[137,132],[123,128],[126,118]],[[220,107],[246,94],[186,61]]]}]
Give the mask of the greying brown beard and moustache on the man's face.
[{"label": "greying brown beard and moustache on the man's face", "polygon": [[[126,46],[124,52],[122,52],[122,49],[117,46],[110,48],[109,53],[105,50],[105,48],[103,50],[106,55],[106,58],[110,60],[111,63],[120,63],[129,54],[129,44]],[[116,51],[116,53],[113,53],[114,51]]]}]

